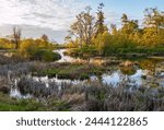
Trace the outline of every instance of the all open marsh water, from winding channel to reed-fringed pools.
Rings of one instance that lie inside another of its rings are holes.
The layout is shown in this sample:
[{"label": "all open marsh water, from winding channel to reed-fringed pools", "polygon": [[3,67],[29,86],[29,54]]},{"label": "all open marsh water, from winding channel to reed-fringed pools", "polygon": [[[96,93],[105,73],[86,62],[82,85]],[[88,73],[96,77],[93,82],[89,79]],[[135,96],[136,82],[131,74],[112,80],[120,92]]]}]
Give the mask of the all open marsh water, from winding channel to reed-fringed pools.
[{"label": "all open marsh water, from winding channel to reed-fringed pools", "polygon": [[[80,58],[73,58],[70,56],[65,56],[66,49],[55,50],[60,54],[61,59],[57,62],[85,62]],[[91,58],[87,63],[91,62],[105,62],[104,59],[94,59]],[[112,71],[106,71],[102,75],[90,75],[87,80],[69,80],[69,79],[59,79],[58,75],[55,78],[48,76],[32,76],[26,75],[26,79],[33,80],[36,84],[40,83],[40,85],[46,88],[54,87],[52,84],[57,84],[58,91],[61,90],[66,84],[70,85],[90,85],[92,82],[98,82],[107,85],[112,85],[114,87],[117,86],[128,86],[130,88],[137,88],[140,86],[144,87],[164,87],[164,58],[147,58],[140,59],[136,61],[122,60],[120,63],[115,64]],[[17,90],[17,82],[20,79],[15,79],[14,86],[10,95],[12,97],[20,98],[30,98],[31,94],[22,94]],[[37,84],[38,85],[38,84]],[[50,92],[48,92],[50,93]]]}]

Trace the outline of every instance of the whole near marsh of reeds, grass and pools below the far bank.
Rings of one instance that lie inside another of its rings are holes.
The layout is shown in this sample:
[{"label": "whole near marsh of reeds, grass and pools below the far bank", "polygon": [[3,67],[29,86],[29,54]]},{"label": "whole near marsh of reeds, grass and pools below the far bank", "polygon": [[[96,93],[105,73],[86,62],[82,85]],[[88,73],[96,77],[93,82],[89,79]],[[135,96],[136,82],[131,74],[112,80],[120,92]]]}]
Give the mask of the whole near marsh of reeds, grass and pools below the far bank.
[{"label": "whole near marsh of reeds, grass and pools below the far bank", "polygon": [[1,110],[164,110],[163,60],[85,62],[2,63]]}]

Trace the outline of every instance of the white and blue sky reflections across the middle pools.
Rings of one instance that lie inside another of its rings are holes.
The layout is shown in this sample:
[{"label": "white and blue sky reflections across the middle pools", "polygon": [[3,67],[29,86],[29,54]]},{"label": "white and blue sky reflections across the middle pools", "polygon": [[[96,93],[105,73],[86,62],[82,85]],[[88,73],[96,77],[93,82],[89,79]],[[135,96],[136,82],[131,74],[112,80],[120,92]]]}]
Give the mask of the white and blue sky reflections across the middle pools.
[{"label": "white and blue sky reflections across the middle pools", "polygon": [[[112,74],[103,74],[102,75],[102,81],[104,84],[112,84],[114,86],[118,85],[119,83],[121,82],[129,82],[129,84],[131,85],[141,85],[142,84],[142,79],[141,79],[141,75],[143,74],[143,71],[142,70],[138,70],[136,72],[136,74],[131,75],[131,76],[127,76],[127,75],[124,75],[119,70],[118,71],[115,71],[114,73]],[[52,79],[48,79],[48,76],[42,76],[42,78],[37,78],[37,76],[33,76],[33,80],[36,81],[36,82],[43,82],[46,84],[46,86],[48,87],[48,83],[49,82],[56,82],[58,85],[61,85],[62,83],[72,83],[72,84],[83,84],[85,83],[85,81],[80,81],[80,80],[61,80],[61,79],[58,79],[57,76],[56,78],[52,78]],[[92,75],[90,78],[91,81],[97,81],[97,76],[95,75]]]}]

